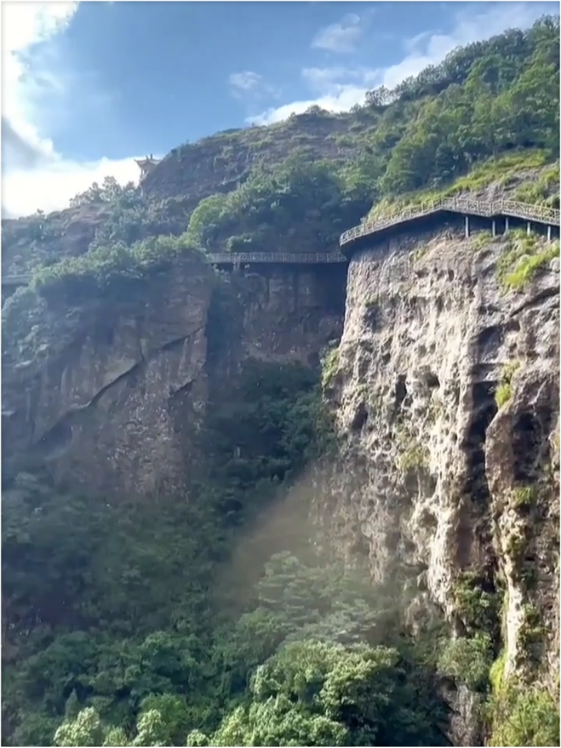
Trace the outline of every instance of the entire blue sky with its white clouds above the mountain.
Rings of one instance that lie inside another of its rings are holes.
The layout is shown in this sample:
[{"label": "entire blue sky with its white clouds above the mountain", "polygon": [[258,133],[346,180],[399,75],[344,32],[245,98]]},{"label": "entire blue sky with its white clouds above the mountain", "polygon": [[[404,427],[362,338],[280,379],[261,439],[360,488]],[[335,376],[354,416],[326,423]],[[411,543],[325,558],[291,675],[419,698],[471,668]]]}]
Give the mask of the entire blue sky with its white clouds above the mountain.
[{"label": "entire blue sky with its white clouds above the mountain", "polygon": [[4,215],[136,180],[221,129],[345,111],[554,2],[14,2],[2,10]]}]

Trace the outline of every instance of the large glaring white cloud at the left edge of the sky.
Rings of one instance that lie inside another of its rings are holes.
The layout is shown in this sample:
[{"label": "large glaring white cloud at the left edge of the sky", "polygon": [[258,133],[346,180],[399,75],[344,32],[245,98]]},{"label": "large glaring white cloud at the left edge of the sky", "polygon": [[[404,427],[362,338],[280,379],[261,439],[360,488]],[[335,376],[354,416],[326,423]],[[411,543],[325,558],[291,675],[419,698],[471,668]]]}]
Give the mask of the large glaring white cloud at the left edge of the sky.
[{"label": "large glaring white cloud at the left edge of the sky", "polygon": [[[64,117],[72,71],[61,70],[57,37],[78,9],[77,2],[1,4],[2,213],[28,215],[38,208],[67,207],[70,197],[112,175],[137,180],[132,158],[76,162],[58,152],[49,137],[49,116]],[[30,54],[41,44],[41,54]]]}]

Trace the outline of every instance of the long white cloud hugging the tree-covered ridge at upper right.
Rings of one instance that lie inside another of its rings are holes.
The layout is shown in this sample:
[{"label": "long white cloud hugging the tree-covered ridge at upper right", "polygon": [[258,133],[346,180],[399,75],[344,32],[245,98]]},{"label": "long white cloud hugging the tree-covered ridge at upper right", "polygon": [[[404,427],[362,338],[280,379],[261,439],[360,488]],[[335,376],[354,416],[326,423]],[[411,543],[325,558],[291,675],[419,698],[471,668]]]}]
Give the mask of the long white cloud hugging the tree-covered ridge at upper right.
[{"label": "long white cloud hugging the tree-covered ridge at upper right", "polygon": [[[473,13],[472,7],[469,13],[459,13],[456,16],[456,25],[450,34],[426,31],[411,39],[402,40],[405,56],[398,64],[390,67],[304,69],[302,77],[310,88],[309,98],[269,108],[248,121],[259,125],[280,122],[290,114],[301,114],[313,105],[328,111],[349,111],[353,105],[364,103],[368,90],[382,84],[393,88],[408,76],[417,76],[427,65],[438,64],[448,52],[458,46],[488,39],[507,28],[527,28],[547,12],[547,6],[540,2],[501,2],[494,4],[494,7],[486,6],[480,13]],[[358,16],[355,17],[358,19]],[[328,27],[331,28],[334,27]]]}]

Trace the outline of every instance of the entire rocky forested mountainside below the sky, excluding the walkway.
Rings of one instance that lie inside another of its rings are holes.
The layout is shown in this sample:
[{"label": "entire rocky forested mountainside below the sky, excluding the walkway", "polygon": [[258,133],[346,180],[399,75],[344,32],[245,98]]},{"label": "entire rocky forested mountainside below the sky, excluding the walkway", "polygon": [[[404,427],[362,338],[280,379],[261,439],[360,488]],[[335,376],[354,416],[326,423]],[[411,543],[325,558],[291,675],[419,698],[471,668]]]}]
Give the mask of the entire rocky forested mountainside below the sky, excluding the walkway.
[{"label": "entire rocky forested mountainside below the sky, excluding the walkway", "polygon": [[559,741],[558,245],[203,262],[559,206],[559,67],[542,19],[2,221],[4,744]]}]

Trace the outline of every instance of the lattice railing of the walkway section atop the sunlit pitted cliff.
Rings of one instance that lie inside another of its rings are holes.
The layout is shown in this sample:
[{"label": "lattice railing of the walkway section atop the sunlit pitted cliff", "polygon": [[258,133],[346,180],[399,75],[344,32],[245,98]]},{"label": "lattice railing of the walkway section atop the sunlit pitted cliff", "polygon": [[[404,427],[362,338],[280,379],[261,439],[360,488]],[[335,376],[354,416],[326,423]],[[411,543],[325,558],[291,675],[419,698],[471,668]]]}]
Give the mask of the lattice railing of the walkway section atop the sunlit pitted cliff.
[{"label": "lattice railing of the walkway section atop the sunlit pitted cliff", "polygon": [[421,205],[405,208],[392,215],[384,215],[375,221],[368,221],[360,226],[355,226],[341,234],[339,244],[342,247],[360,236],[376,233],[390,226],[412,221],[415,218],[423,218],[441,211],[462,213],[463,215],[481,215],[485,218],[494,216],[509,216],[511,218],[523,218],[526,221],[534,221],[539,224],[551,226],[560,225],[560,211],[544,205],[530,205],[518,203],[516,200],[473,200],[470,197],[441,197]]}]

